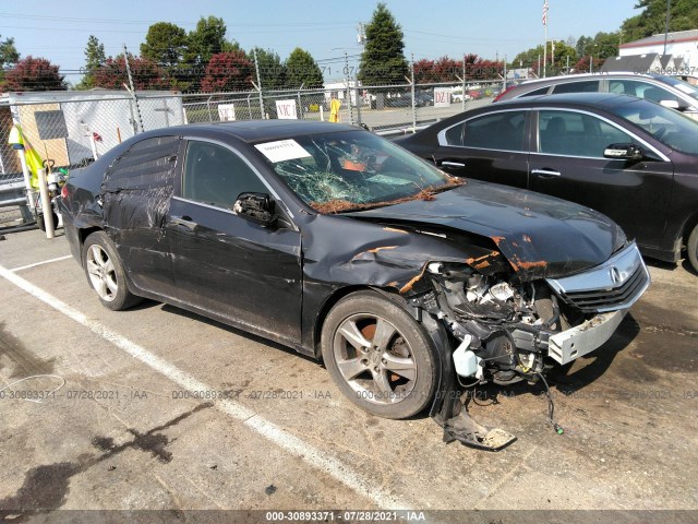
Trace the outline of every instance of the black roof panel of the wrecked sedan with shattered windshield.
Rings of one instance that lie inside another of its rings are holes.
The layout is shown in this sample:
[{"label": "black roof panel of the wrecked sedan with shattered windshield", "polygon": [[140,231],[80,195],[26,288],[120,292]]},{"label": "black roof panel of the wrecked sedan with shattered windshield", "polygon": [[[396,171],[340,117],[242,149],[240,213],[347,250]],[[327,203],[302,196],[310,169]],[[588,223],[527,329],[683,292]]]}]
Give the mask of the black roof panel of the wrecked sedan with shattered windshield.
[{"label": "black roof panel of the wrecked sedan with shattered windshield", "polygon": [[146,139],[158,135],[186,135],[197,138],[221,139],[232,136],[243,142],[268,142],[289,136],[299,136],[335,131],[358,131],[356,126],[317,122],[310,120],[239,120],[232,122],[204,122],[186,126],[163,128],[139,134]]}]

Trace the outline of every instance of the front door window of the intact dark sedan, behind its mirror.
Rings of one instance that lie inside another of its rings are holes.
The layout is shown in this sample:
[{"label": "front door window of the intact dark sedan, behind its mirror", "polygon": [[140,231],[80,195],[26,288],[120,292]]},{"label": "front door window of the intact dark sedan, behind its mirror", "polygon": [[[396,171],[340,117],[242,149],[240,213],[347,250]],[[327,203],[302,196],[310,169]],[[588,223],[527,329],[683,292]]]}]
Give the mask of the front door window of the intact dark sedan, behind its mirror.
[{"label": "front door window of the intact dark sedan, behind its mirror", "polygon": [[575,111],[540,111],[541,153],[603,158],[610,144],[629,144],[633,138],[615,126],[591,115]]}]

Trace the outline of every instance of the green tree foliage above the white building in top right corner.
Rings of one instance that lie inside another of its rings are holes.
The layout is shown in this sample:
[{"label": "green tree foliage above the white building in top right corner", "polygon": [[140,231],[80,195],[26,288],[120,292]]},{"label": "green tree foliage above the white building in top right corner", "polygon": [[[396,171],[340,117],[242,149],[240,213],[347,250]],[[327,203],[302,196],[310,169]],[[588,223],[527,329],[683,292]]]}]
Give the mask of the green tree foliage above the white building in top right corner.
[{"label": "green tree foliage above the white building in top right corner", "polygon": [[[658,33],[664,33],[666,24],[665,0],[638,0],[635,9],[642,12],[623,22],[623,40],[633,41]],[[698,27],[698,2],[672,0],[669,31],[687,31]]]}]

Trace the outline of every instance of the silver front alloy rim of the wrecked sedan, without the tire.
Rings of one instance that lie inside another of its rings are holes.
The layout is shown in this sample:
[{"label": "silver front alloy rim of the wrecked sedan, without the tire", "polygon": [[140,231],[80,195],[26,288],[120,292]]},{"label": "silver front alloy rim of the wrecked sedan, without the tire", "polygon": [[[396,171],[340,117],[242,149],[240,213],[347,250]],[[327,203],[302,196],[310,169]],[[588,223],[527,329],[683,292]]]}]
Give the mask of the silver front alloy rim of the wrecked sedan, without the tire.
[{"label": "silver front alloy rim of the wrecked sedan, without the tire", "polygon": [[373,404],[397,404],[414,392],[418,367],[412,348],[386,319],[359,313],[335,332],[337,368],[357,396]]}]

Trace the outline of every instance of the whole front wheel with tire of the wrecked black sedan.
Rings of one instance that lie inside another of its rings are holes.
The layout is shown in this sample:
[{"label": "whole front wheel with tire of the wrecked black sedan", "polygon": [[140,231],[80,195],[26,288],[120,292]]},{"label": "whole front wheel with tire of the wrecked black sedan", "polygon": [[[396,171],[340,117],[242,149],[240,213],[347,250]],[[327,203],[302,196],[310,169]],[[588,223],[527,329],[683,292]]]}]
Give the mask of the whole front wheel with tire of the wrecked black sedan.
[{"label": "whole front wheel with tire of the wrecked black sedan", "polygon": [[327,370],[351,402],[385,418],[407,418],[432,401],[434,344],[405,309],[374,291],[340,300],[325,319]]}]

